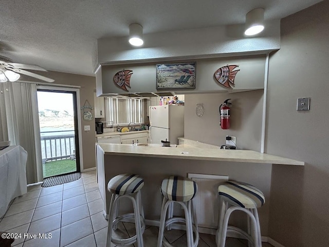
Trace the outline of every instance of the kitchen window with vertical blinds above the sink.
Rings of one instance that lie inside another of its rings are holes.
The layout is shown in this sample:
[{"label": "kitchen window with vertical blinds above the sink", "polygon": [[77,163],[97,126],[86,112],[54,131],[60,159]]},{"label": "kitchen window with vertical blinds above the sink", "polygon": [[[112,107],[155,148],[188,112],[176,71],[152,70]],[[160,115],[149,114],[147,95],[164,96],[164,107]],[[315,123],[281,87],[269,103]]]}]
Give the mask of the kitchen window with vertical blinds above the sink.
[{"label": "kitchen window with vertical blinds above the sink", "polygon": [[106,121],[114,125],[128,125],[142,122],[141,99],[106,98]]}]

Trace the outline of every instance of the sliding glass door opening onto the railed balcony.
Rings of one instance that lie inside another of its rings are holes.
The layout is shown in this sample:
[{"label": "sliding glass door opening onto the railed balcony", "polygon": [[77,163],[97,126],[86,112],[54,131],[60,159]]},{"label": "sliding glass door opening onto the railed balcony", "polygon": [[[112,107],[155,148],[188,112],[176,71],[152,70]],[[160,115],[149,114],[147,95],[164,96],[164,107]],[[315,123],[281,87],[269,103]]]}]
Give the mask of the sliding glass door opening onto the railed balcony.
[{"label": "sliding glass door opening onto the railed balcony", "polygon": [[38,89],[43,177],[80,171],[77,92]]}]

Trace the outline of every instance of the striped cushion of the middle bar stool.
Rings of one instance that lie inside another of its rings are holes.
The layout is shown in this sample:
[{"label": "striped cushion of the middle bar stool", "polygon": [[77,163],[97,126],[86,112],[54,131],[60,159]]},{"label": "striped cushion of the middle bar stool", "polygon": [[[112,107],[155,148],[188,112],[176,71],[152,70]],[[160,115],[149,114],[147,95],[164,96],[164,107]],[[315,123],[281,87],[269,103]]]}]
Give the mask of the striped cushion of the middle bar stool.
[{"label": "striped cushion of the middle bar stool", "polygon": [[197,184],[193,180],[178,176],[163,179],[160,186],[162,196],[176,202],[190,201],[196,190]]}]

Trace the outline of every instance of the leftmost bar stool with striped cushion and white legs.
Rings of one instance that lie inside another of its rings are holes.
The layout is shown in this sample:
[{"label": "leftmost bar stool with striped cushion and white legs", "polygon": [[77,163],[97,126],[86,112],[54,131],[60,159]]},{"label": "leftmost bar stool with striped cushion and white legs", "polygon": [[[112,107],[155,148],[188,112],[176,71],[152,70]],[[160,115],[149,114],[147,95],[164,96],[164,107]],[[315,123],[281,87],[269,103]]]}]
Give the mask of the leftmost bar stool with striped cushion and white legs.
[{"label": "leftmost bar stool with striped cushion and white legs", "polygon": [[[108,213],[108,228],[106,246],[111,246],[111,242],[120,246],[137,242],[138,247],[143,247],[143,232],[145,230],[144,211],[141,204],[140,189],[144,185],[144,180],[136,174],[120,174],[109,180],[107,190],[112,192],[111,204]],[[119,200],[129,198],[133,203],[134,213],[118,215]],[[112,236],[112,231],[116,230],[117,224],[124,219],[134,218],[136,235],[118,239]]]}]

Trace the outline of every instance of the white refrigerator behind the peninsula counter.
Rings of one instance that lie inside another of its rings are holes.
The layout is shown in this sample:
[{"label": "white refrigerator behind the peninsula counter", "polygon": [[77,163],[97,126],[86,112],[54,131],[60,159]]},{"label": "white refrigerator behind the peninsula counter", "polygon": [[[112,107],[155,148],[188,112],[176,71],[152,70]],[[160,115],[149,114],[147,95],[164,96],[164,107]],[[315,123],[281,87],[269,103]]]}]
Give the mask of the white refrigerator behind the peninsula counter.
[{"label": "white refrigerator behind the peninsula counter", "polygon": [[150,142],[161,144],[168,140],[178,144],[178,137],[184,136],[184,106],[175,104],[150,107]]}]

